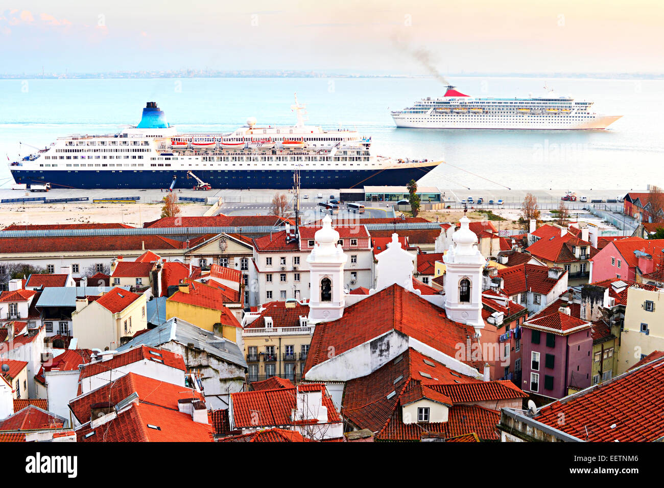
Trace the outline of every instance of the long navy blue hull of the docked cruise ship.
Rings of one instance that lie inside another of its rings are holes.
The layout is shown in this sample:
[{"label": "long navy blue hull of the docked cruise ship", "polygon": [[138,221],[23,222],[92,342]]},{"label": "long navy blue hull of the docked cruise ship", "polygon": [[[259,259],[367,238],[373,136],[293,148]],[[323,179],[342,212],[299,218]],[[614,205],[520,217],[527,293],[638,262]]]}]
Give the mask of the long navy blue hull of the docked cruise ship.
[{"label": "long navy blue hull of the docked cruise ship", "polygon": [[[353,188],[364,185],[406,185],[418,180],[436,167],[436,164],[418,167],[396,167],[382,170],[330,171],[300,170],[300,185],[306,189]],[[11,167],[16,183],[50,183],[53,189],[165,189],[175,187],[192,189],[195,179],[187,170],[173,171],[39,171]],[[196,175],[213,189],[290,189],[293,186],[291,170],[201,171]]]}]

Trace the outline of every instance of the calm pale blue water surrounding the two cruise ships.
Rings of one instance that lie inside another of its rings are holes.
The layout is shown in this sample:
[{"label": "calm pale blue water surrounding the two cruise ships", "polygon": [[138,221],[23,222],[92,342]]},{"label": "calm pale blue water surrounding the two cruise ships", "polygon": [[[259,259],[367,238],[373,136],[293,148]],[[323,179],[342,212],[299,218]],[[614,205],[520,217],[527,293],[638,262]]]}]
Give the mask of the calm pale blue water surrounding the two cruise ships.
[{"label": "calm pale blue water surrounding the two cruise ships", "polygon": [[[455,78],[473,96],[539,96],[535,78]],[[396,129],[389,110],[444,87],[414,78],[201,78],[181,80],[0,80],[0,155],[14,160],[71,133],[114,133],[139,122],[156,101],[181,131],[232,131],[258,123],[291,124],[293,92],[309,123],[373,136],[376,153],[444,158],[420,180],[442,189],[645,189],[664,182],[662,80],[553,79],[561,95],[594,100],[594,110],[623,115],[606,131]],[[647,170],[647,171],[646,171]],[[0,185],[11,184],[6,167]],[[396,182],[395,182],[396,183]],[[405,183],[405,182],[404,182]],[[613,195],[613,194],[611,194]]]}]

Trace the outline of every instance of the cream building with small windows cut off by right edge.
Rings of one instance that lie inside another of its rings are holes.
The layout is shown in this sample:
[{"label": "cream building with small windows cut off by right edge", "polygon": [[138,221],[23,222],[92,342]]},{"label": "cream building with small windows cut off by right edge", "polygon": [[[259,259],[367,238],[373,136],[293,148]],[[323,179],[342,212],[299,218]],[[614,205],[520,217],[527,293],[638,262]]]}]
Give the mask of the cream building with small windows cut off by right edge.
[{"label": "cream building with small windows cut off by right edge", "polygon": [[618,374],[653,351],[664,351],[664,296],[661,291],[648,288],[637,285],[627,290]]}]

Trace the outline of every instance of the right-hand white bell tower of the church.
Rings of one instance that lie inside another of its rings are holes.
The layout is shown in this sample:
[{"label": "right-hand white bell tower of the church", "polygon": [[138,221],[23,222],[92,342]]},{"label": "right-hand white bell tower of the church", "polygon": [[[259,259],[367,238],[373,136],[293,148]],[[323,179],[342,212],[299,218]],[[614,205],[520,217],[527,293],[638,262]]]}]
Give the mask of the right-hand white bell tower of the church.
[{"label": "right-hand white bell tower of the church", "polygon": [[463,216],[461,228],[452,234],[452,246],[443,256],[445,263],[445,311],[455,322],[472,325],[477,337],[482,319],[482,268],[486,260],[477,249],[477,236]]}]

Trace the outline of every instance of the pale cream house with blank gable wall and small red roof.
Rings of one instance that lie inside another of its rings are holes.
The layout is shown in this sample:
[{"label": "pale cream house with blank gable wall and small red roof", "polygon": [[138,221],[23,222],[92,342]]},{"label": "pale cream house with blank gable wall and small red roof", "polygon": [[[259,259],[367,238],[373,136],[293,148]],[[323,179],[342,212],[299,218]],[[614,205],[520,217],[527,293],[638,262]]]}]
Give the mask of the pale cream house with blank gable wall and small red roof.
[{"label": "pale cream house with blank gable wall and small red roof", "polygon": [[145,295],[114,287],[99,297],[77,298],[72,327],[80,349],[114,350],[147,329]]}]

